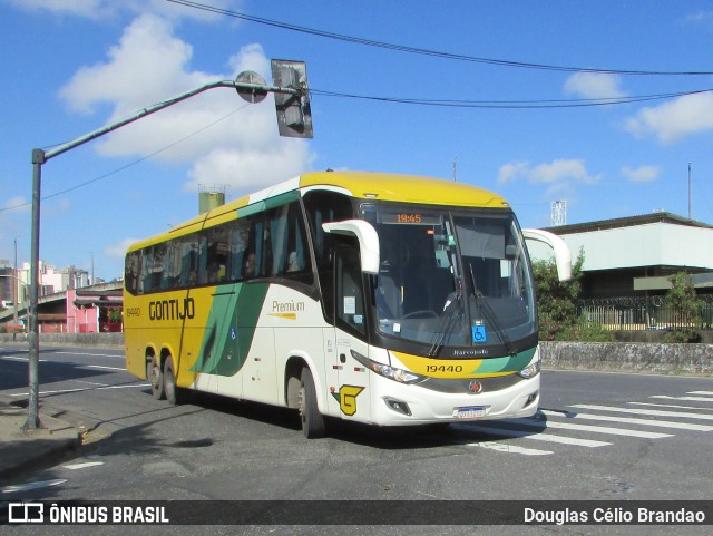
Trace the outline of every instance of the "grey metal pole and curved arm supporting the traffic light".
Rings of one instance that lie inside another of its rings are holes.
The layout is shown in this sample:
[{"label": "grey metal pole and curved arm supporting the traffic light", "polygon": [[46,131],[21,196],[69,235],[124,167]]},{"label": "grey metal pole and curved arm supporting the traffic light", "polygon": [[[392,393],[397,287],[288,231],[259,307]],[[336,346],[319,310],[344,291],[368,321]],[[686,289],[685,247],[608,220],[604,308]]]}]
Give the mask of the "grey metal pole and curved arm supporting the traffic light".
[{"label": "grey metal pole and curved arm supporting the traffic light", "polygon": [[[294,69],[293,69],[294,70]],[[257,79],[260,77],[255,75]],[[40,263],[40,201],[41,201],[41,184],[42,184],[42,165],[62,153],[79,147],[80,145],[91,142],[98,137],[109,134],[123,126],[134,123],[143,117],[146,117],[155,111],[163,110],[177,103],[194,97],[208,89],[218,87],[228,87],[237,90],[241,97],[246,100],[257,103],[264,98],[267,92],[282,94],[295,97],[297,105],[301,103],[307,103],[309,96],[306,87],[306,74],[302,78],[294,78],[299,84],[293,84],[291,87],[275,87],[265,86],[262,84],[244,84],[240,80],[245,79],[244,74],[240,75],[236,80],[221,80],[212,84],[206,84],[191,91],[180,94],[172,99],[157,103],[153,106],[144,108],[125,119],[108,125],[104,128],[99,128],[89,134],[78,137],[67,144],[50,150],[32,149],[32,222],[31,222],[31,244],[30,244],[30,309],[28,313],[29,320],[29,364],[28,364],[28,381],[29,381],[29,399],[28,399],[28,416],[27,421],[22,426],[23,430],[33,430],[41,428],[39,417],[39,323],[38,323],[38,301],[39,301],[39,263]],[[299,87],[294,87],[299,86]],[[248,98],[252,96],[252,100]],[[311,121],[311,119],[310,119]],[[282,133],[281,133],[282,135]]]}]

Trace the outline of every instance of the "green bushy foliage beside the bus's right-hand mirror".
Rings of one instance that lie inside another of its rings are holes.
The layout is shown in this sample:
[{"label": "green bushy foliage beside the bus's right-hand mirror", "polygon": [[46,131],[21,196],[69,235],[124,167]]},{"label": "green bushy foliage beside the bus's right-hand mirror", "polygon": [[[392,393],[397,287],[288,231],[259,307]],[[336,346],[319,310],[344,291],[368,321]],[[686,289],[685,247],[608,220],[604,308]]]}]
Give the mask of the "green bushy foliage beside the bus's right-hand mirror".
[{"label": "green bushy foliage beside the bus's right-hand mirror", "polygon": [[543,341],[611,341],[612,333],[577,318],[577,299],[582,293],[584,252],[572,265],[572,279],[559,281],[555,261],[535,261],[535,290],[539,339]]}]

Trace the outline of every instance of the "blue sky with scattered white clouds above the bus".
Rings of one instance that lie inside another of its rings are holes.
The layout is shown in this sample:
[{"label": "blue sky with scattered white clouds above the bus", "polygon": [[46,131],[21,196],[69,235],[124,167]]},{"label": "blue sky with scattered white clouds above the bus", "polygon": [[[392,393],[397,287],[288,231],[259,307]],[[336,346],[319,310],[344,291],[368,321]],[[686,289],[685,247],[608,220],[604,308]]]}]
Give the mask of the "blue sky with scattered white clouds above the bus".
[{"label": "blue sky with scattered white clouds above the bus", "polygon": [[[203,6],[203,7],[202,7]],[[211,8],[217,9],[206,9]],[[429,175],[524,227],[713,224],[713,4],[0,0],[0,260],[30,257],[31,153],[270,60],[306,62],[312,139],[216,88],[49,159],[40,259],[121,275],[131,242],[310,170]]]}]

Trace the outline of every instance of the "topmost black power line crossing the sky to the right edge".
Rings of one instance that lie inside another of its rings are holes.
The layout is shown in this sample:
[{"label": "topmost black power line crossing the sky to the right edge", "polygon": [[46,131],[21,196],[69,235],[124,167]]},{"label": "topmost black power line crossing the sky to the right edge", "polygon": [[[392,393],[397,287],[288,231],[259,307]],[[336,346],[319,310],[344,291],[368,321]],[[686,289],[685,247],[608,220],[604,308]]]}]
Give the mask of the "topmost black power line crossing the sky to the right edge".
[{"label": "topmost black power line crossing the sky to the right edge", "polygon": [[440,50],[432,50],[419,47],[409,47],[406,45],[397,45],[391,42],[378,41],[373,39],[365,39],[354,36],[346,36],[344,33],[336,33],[326,30],[319,30],[315,28],[307,28],[304,26],[291,25],[289,22],[281,22],[277,20],[265,19],[262,17],[255,17],[247,13],[241,13],[229,9],[217,8],[215,6],[208,6],[205,3],[194,2],[189,0],[166,0],[172,3],[185,6],[187,8],[198,9],[202,11],[208,11],[212,13],[223,14],[225,17],[232,17],[235,19],[242,19],[258,25],[270,26],[272,28],[280,28],[283,30],[295,31],[310,36],[322,37],[326,39],[334,39],[339,41],[352,42],[355,45],[362,45],[367,47],[382,48],[385,50],[393,50],[397,52],[416,53],[421,56],[432,56],[436,58],[450,59],[457,61],[469,61],[475,64],[495,65],[500,67],[517,67],[522,69],[539,69],[564,72],[595,72],[605,75],[637,75],[637,76],[709,76],[713,75],[713,71],[663,71],[663,70],[639,70],[639,69],[604,69],[604,68],[590,68],[590,67],[572,67],[572,66],[557,66],[548,64],[531,64],[527,61],[514,61],[495,58],[484,58],[478,56],[468,56],[462,53],[443,52]]}]

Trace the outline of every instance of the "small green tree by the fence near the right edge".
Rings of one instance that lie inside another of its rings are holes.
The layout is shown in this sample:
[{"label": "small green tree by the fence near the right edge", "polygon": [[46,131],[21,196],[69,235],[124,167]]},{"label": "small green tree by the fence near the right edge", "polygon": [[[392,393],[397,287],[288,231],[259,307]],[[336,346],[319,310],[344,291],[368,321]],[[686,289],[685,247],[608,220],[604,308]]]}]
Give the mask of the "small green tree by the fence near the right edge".
[{"label": "small green tree by the fence near the right edge", "polygon": [[672,288],[666,292],[665,302],[676,313],[675,327],[666,332],[664,342],[700,342],[703,301],[696,296],[693,279],[685,272],[678,272],[668,281]]}]

